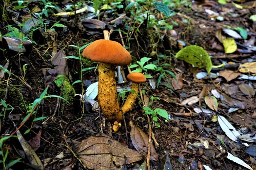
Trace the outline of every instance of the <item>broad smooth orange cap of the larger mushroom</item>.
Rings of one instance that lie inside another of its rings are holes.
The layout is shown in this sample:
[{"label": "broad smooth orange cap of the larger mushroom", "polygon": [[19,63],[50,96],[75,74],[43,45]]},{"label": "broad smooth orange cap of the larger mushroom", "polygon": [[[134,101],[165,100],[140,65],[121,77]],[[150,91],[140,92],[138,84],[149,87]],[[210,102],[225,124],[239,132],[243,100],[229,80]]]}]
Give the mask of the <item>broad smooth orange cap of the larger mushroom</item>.
[{"label": "broad smooth orange cap of the larger mushroom", "polygon": [[100,63],[128,65],[132,57],[121,44],[116,41],[99,39],[88,45],[82,53],[83,57]]}]

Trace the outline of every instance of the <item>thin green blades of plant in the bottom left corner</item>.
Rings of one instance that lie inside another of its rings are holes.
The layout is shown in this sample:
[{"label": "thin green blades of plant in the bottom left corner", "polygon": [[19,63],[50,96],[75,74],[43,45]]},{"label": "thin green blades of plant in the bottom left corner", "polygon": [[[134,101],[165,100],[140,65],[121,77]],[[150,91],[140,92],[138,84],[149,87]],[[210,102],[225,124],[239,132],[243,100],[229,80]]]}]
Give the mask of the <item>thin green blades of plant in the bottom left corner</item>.
[{"label": "thin green blades of plant in the bottom left corner", "polygon": [[1,148],[0,155],[2,157],[2,160],[0,160],[0,164],[2,164],[3,170],[8,170],[14,164],[16,164],[17,162],[20,162],[20,159],[21,159],[21,158],[18,158],[18,159],[9,161],[9,163],[6,162],[8,157],[8,149],[7,150],[4,149],[3,142],[9,139],[10,137],[14,137],[14,136],[4,136],[0,138],[0,148]]}]

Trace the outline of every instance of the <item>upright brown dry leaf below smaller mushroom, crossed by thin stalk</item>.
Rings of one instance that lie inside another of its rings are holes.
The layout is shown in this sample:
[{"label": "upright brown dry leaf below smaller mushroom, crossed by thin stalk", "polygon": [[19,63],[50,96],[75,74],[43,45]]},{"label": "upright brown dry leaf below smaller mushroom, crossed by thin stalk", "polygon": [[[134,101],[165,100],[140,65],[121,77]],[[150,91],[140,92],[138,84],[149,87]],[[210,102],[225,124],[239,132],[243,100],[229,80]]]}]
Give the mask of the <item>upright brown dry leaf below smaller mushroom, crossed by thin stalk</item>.
[{"label": "upright brown dry leaf below smaller mushroom, crossed by thin stalk", "polygon": [[[139,153],[147,155],[149,137],[139,127],[134,125],[132,121],[130,121],[129,124],[131,126],[130,136],[133,146]],[[153,161],[158,161],[158,153],[156,152],[152,143],[150,146],[150,159]]]}]

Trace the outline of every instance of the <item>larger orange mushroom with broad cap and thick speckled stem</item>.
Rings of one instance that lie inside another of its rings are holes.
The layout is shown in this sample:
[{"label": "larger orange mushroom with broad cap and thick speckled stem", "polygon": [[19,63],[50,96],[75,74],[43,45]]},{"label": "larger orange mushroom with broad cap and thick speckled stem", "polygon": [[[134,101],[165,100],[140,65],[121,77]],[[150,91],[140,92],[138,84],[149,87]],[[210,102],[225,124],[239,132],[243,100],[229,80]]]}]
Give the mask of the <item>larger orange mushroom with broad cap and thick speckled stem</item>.
[{"label": "larger orange mushroom with broad cap and thick speckled stem", "polygon": [[132,57],[116,41],[99,39],[88,45],[82,56],[98,62],[98,102],[111,122],[121,121],[119,112],[115,65],[128,65]]}]

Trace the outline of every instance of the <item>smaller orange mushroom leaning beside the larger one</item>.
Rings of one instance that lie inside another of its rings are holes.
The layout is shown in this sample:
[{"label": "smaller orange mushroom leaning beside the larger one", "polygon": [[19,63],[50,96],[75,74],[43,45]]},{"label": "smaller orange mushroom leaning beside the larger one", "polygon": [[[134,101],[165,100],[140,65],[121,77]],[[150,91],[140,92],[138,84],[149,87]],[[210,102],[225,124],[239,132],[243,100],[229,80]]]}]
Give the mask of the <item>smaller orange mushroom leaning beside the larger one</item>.
[{"label": "smaller orange mushroom leaning beside the larger one", "polygon": [[121,107],[122,113],[126,113],[130,110],[132,110],[138,94],[138,84],[146,82],[146,77],[139,73],[139,72],[133,72],[127,75],[127,79],[132,82],[131,89],[134,90],[134,92],[130,92],[126,101],[124,102],[123,106]]}]

